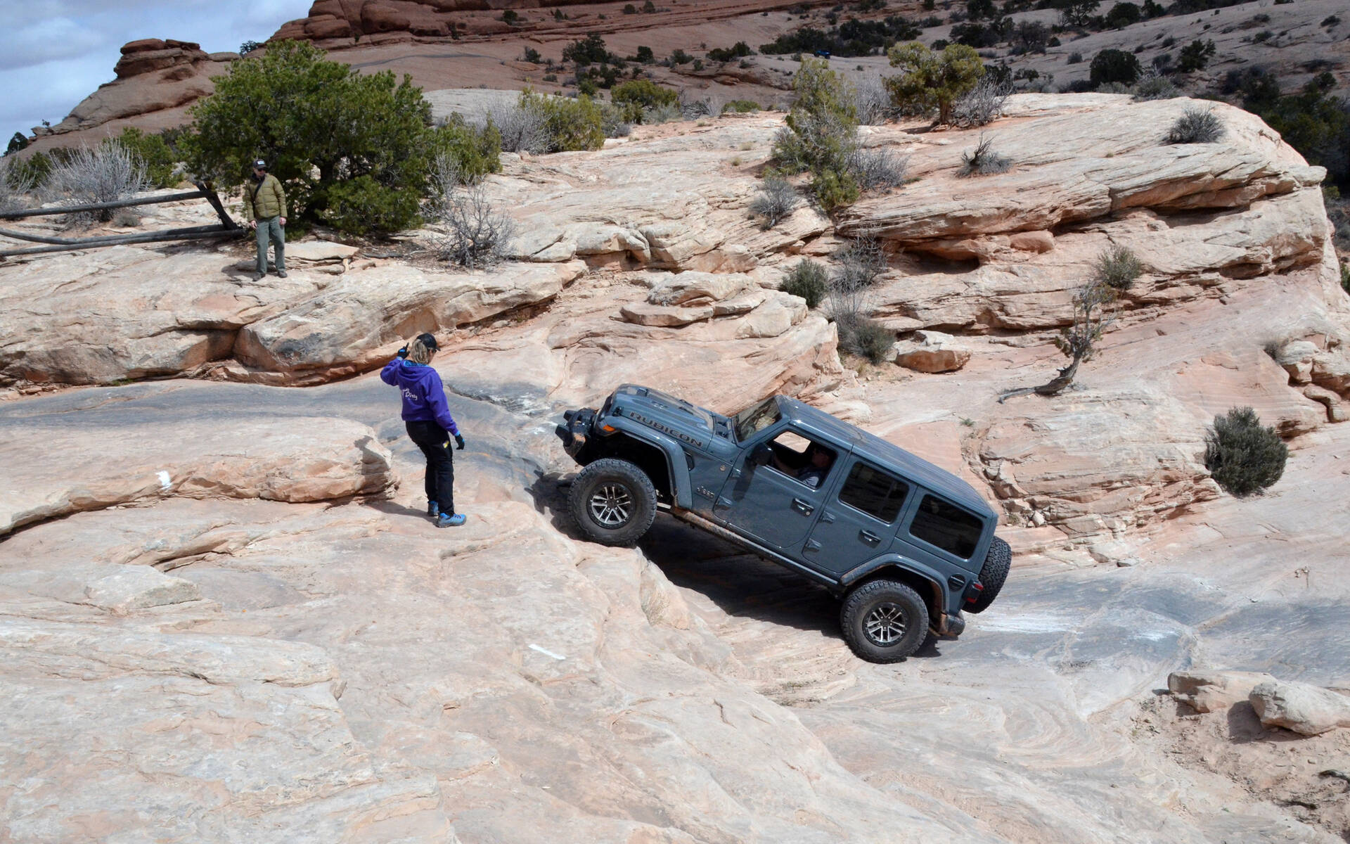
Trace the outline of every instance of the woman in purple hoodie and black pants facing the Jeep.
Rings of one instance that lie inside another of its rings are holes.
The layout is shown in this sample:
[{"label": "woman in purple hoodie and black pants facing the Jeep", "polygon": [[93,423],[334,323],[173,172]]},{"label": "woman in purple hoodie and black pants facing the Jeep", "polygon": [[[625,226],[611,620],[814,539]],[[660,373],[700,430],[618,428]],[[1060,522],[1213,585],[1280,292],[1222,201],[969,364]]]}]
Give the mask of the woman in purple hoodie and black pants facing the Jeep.
[{"label": "woman in purple hoodie and black pants facing the Jeep", "polygon": [[402,393],[408,436],[427,455],[427,515],[436,520],[437,527],[450,528],[464,524],[464,515],[455,512],[455,459],[450,438],[455,438],[460,450],[464,448],[464,438],[446,405],[440,374],[431,367],[437,348],[436,338],[417,335],[385,365],[379,378]]}]

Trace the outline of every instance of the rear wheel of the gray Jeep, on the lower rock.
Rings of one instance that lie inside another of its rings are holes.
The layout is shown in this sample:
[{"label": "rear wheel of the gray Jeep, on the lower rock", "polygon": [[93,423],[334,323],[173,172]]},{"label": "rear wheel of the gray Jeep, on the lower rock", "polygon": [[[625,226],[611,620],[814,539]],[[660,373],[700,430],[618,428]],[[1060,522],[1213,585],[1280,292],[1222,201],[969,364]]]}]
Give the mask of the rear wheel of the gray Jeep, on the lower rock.
[{"label": "rear wheel of the gray Jeep, on the lower rock", "polygon": [[845,596],[840,627],[848,647],[867,662],[899,662],[927,637],[927,605],[905,583],[868,581]]}]

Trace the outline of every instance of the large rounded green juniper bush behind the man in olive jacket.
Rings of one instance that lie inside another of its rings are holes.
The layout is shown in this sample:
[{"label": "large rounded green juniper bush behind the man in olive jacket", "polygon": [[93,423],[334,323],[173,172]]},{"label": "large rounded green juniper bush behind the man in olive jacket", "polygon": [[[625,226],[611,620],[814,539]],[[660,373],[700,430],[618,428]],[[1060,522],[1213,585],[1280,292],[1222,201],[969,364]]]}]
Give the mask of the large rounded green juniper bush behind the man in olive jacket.
[{"label": "large rounded green juniper bush behind the man in olive jacket", "polygon": [[[432,128],[431,105],[410,77],[356,73],[313,45],[288,41],[234,62],[215,82],[216,92],[192,107],[196,132],[182,140],[192,173],[232,188],[263,158],[286,185],[300,227],[397,231],[416,221]],[[369,215],[359,203],[371,204]],[[356,221],[362,216],[369,223]]]}]

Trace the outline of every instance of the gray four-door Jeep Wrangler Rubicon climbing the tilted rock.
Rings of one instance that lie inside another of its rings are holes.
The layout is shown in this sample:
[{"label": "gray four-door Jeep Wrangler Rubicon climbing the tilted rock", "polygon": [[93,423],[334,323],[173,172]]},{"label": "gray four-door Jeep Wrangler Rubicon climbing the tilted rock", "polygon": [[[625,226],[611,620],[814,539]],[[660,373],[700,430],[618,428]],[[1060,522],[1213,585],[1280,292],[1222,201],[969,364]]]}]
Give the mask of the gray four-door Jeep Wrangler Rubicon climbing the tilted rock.
[{"label": "gray four-door Jeep Wrangler Rubicon climbing the tilted rock", "polygon": [[563,417],[585,467],[568,494],[582,533],[632,544],[666,509],[824,583],[863,659],[959,636],[961,612],[983,612],[1007,578],[998,515],[968,483],[795,398],[721,416],[625,384]]}]

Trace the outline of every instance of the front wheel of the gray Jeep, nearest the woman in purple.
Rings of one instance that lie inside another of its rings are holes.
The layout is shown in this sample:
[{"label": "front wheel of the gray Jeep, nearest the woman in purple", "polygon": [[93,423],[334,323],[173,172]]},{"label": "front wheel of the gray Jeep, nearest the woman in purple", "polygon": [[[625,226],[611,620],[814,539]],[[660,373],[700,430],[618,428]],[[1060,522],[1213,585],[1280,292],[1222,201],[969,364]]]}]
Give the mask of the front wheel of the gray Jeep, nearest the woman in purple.
[{"label": "front wheel of the gray Jeep, nearest the woman in purple", "polygon": [[633,463],[603,458],[576,475],[567,506],[587,539],[602,546],[630,546],[656,519],[656,487]]}]

